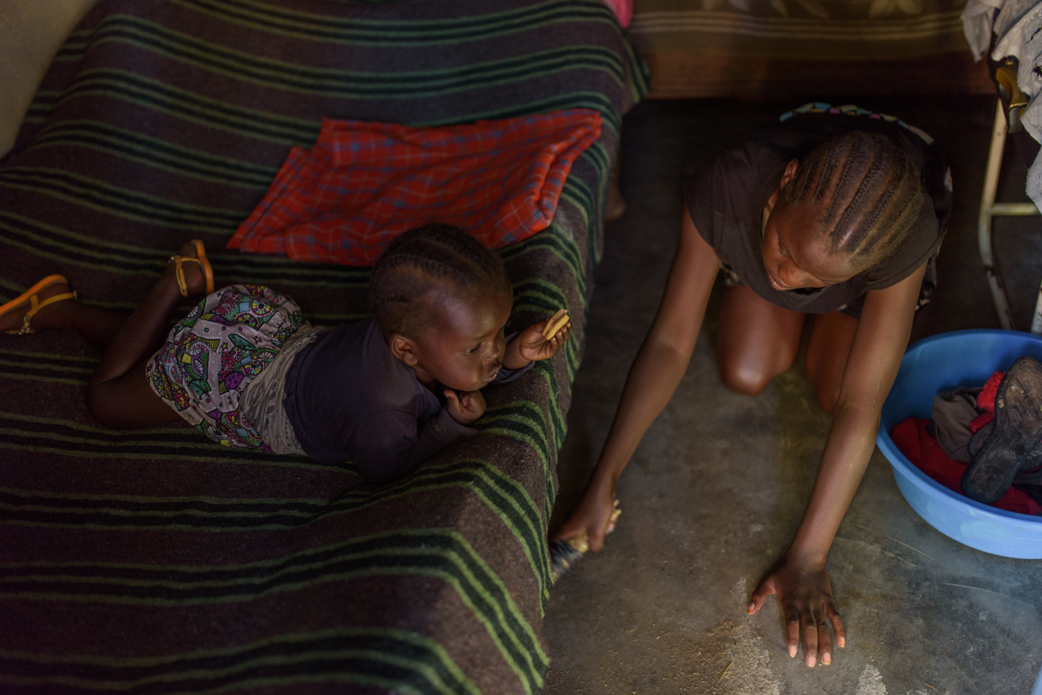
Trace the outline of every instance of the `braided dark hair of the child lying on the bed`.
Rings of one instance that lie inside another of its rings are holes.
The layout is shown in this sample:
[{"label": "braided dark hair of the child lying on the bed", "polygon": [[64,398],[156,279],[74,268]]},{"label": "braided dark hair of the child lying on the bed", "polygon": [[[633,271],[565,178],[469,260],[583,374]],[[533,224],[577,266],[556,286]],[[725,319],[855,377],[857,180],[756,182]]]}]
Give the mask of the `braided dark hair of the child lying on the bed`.
[{"label": "braided dark hair of the child lying on the bed", "polygon": [[485,294],[511,296],[503,262],[460,227],[426,224],[399,235],[373,266],[369,311],[384,336],[415,336],[430,301]]}]

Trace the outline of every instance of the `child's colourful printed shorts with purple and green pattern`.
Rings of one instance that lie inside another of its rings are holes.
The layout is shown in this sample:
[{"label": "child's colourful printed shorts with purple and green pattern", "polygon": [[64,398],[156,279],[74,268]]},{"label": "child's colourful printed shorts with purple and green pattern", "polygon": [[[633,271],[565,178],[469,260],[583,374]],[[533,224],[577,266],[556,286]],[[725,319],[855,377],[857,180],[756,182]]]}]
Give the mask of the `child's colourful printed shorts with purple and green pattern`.
[{"label": "child's colourful printed shorts with purple and green pattern", "polygon": [[149,386],[215,442],[270,452],[240,399],[303,323],[293,299],[264,286],[218,290],[170,330],[148,361]]}]

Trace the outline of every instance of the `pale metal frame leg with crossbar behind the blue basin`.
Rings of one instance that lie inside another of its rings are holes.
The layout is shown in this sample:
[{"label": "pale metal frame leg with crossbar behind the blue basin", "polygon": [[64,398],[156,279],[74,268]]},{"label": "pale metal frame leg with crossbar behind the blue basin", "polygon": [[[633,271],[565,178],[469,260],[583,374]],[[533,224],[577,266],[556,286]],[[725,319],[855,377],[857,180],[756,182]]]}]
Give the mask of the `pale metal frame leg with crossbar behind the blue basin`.
[{"label": "pale metal frame leg with crossbar behind the blue basin", "polygon": [[[1002,113],[1002,101],[995,103],[995,123],[991,129],[991,147],[988,149],[988,168],[984,174],[984,191],[981,194],[981,216],[977,218],[977,248],[981,250],[981,260],[988,276],[988,288],[991,299],[998,312],[998,321],[1002,328],[1013,330],[1013,314],[1006,297],[1006,287],[995,265],[995,254],[991,249],[991,221],[998,215],[1038,215],[1035,203],[996,203],[995,192],[998,190],[998,172],[1002,167],[1002,151],[1006,149],[1006,114]],[[1039,289],[1039,299],[1035,304],[1035,318],[1032,321],[1032,332],[1042,333],[1042,288]]]}]

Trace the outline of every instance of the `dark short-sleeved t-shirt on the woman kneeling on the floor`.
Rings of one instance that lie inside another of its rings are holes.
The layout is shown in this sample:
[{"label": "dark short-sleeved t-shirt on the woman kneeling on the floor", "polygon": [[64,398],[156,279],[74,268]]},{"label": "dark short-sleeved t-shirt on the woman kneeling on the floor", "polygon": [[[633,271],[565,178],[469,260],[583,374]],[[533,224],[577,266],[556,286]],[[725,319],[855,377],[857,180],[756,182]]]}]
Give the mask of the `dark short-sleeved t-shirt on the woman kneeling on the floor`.
[{"label": "dark short-sleeved t-shirt on the woman kneeling on the floor", "polygon": [[[801,158],[829,138],[853,130],[880,132],[893,140],[918,167],[934,209],[923,209],[894,253],[849,280],[820,290],[775,290],[764,268],[764,205],[777,190],[790,160]],[[896,284],[937,253],[951,213],[950,176],[937,144],[927,145],[897,123],[865,116],[802,114],[713,155],[684,182],[684,198],[698,232],[720,262],[753,292],[778,306],[826,314],[846,306],[867,290]]]}]

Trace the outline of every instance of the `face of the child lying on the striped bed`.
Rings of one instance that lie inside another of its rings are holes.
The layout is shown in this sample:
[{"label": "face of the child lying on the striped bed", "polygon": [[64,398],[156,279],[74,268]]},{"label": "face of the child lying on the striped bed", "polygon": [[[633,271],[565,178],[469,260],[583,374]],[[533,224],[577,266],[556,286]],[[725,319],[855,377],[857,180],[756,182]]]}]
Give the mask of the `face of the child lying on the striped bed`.
[{"label": "face of the child lying on the striped bed", "polygon": [[418,375],[429,374],[456,391],[477,391],[496,378],[503,364],[503,326],[514,300],[508,294],[450,299],[431,307],[437,316],[417,337]]}]

